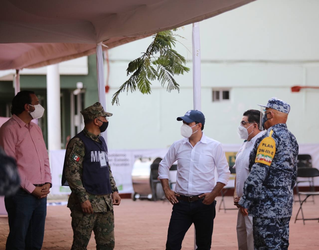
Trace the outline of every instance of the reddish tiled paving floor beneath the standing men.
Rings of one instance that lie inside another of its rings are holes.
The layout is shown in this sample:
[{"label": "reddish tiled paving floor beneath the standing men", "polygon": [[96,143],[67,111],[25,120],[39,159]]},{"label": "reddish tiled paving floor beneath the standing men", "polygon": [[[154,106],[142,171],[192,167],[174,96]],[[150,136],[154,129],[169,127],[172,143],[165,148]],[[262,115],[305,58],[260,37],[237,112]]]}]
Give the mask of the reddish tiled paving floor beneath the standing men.
[{"label": "reddish tiled paving floor beneath the standing men", "polygon": [[[219,204],[220,197],[217,198]],[[226,206],[232,207],[232,197],[226,197]],[[132,201],[123,199],[121,205],[115,207],[115,250],[148,250],[165,249],[167,227],[171,214],[168,202]],[[302,221],[293,223],[299,203],[295,203],[293,217],[290,222],[290,250],[319,249],[318,221]],[[319,217],[319,199],[315,204],[304,204],[307,217]],[[214,232],[211,249],[238,249],[236,237],[237,210],[217,212],[214,220]],[[70,210],[66,206],[49,206],[43,250],[70,249],[72,244],[72,228]],[[0,216],[0,250],[4,250],[8,235],[8,219]],[[182,249],[194,249],[194,228],[187,232]],[[88,250],[95,249],[92,235]]]}]

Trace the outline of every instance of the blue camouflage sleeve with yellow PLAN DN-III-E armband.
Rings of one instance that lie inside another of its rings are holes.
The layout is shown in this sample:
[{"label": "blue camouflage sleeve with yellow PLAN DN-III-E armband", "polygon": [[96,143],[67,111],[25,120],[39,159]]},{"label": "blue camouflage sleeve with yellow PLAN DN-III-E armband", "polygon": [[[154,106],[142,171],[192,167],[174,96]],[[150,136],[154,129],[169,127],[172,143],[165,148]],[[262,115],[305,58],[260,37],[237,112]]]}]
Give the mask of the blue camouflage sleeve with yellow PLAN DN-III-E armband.
[{"label": "blue camouflage sleeve with yellow PLAN DN-III-E armband", "polygon": [[248,209],[255,200],[260,200],[263,181],[268,174],[272,158],[276,153],[276,144],[276,140],[269,136],[263,138],[260,143],[255,145],[254,149],[256,148],[257,150],[252,151],[255,153],[255,156],[251,155],[250,157],[254,157],[254,163],[245,180],[243,195],[238,202],[242,207]]}]

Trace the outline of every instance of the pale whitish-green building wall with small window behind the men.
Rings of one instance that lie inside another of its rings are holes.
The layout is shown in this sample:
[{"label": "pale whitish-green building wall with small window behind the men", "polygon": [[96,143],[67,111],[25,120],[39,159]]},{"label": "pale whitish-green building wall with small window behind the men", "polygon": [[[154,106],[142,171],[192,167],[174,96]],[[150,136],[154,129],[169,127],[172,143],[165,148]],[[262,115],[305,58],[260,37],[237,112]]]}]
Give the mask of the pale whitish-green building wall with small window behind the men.
[{"label": "pale whitish-green building wall with small window behind the men", "polygon": [[[291,105],[287,126],[299,143],[318,143],[319,90],[291,92],[295,85],[319,86],[319,1],[258,0],[200,22],[204,132],[222,143],[241,143],[242,113],[273,96]],[[176,50],[191,60],[191,25],[180,28]],[[108,145],[112,149],[163,148],[181,138],[176,117],[193,108],[192,72],[175,77],[180,93],[159,82],[152,94],[112,95],[128,79],[128,63],[151,42],[145,38],[109,50]],[[185,47],[186,48],[185,48]],[[188,67],[192,64],[189,62]],[[212,102],[212,89],[230,90],[230,100]]]}]

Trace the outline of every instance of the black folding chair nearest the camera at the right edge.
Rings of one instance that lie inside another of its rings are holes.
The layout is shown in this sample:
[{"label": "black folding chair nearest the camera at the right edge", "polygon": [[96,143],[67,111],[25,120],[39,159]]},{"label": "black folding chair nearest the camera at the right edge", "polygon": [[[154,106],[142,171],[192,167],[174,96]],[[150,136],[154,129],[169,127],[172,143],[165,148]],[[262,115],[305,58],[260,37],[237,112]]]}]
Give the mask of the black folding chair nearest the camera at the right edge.
[{"label": "black folding chair nearest the camera at the right edge", "polygon": [[[312,168],[312,167],[300,167],[297,169],[297,176],[299,177],[309,177],[309,178],[313,178],[313,177],[318,177],[319,176],[319,170],[317,168]],[[309,185],[309,187],[311,188],[311,186]],[[295,218],[295,223],[296,220],[302,220],[303,224],[305,224],[305,220],[318,220],[319,222],[319,217],[318,218],[305,218],[303,216],[303,211],[302,211],[302,204],[304,202],[306,202],[306,200],[308,199],[309,196],[311,195],[319,195],[319,192],[316,191],[307,191],[307,192],[298,192],[299,195],[299,202],[300,202],[300,208],[297,212],[296,218]],[[302,201],[300,200],[300,195],[306,195],[306,198],[303,199]],[[301,211],[301,216],[302,218],[298,219],[298,214]]]}]

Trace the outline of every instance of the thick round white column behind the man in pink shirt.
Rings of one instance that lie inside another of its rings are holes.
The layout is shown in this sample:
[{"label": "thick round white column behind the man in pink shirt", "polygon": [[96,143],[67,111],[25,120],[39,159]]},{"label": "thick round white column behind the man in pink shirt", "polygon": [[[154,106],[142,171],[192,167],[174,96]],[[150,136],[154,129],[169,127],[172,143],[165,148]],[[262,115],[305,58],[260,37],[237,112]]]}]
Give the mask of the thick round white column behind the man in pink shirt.
[{"label": "thick round white column behind the man in pink shirt", "polygon": [[47,66],[48,150],[61,149],[61,104],[59,65]]}]

